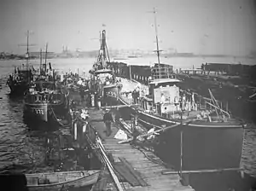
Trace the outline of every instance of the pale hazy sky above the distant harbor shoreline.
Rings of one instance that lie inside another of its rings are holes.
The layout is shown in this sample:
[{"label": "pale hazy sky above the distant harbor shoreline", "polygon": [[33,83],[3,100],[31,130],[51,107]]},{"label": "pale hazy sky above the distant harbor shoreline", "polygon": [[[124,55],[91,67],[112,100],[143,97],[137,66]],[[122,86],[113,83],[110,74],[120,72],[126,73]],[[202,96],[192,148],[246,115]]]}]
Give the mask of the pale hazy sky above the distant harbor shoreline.
[{"label": "pale hazy sky above the distant harbor shoreline", "polygon": [[31,43],[49,51],[98,49],[105,24],[108,49],[155,49],[154,14],[160,49],[202,54],[247,55],[256,50],[253,0],[1,0],[0,51],[25,52]]}]

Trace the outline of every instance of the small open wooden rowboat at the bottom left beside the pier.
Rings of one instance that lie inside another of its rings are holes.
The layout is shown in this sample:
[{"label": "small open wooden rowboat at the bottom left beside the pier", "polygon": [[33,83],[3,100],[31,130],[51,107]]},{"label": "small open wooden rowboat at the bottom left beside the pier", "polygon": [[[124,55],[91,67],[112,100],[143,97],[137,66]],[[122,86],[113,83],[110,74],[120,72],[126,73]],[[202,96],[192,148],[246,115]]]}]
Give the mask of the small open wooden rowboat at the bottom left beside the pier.
[{"label": "small open wooden rowboat at the bottom left beside the pier", "polygon": [[26,187],[30,191],[83,188],[95,184],[99,174],[100,171],[62,171],[26,174]]}]

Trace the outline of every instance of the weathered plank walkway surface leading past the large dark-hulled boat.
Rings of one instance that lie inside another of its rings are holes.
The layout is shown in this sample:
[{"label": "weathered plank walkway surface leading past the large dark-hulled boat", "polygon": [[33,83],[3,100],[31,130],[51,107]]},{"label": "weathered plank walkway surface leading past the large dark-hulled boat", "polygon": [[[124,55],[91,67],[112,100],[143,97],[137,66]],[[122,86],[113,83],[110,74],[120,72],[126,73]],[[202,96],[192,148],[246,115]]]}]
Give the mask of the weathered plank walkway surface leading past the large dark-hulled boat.
[{"label": "weathered plank walkway surface leading past the large dark-hulled boat", "polygon": [[[130,164],[132,171],[137,171],[139,177],[142,178],[140,182],[146,182],[148,186],[136,186],[132,187],[128,182],[121,182],[124,190],[136,190],[136,191],[194,191],[193,188],[189,186],[183,186],[179,182],[179,176],[177,174],[172,175],[162,175],[161,171],[165,170],[164,165],[160,165],[148,159],[146,155],[153,155],[150,152],[142,152],[137,148],[131,146],[130,144],[119,144],[119,140],[114,139],[113,136],[117,133],[118,125],[112,125],[112,134],[106,136],[104,130],[105,124],[103,123],[103,113],[100,110],[90,109],[90,124],[95,127],[99,136],[102,138],[102,144],[107,151],[113,156],[114,163],[123,162],[125,164]],[[145,154],[146,153],[146,154]],[[156,158],[156,156],[154,155]],[[117,190],[114,187],[113,181],[109,179],[106,190]],[[96,189],[94,190],[96,191]]]}]

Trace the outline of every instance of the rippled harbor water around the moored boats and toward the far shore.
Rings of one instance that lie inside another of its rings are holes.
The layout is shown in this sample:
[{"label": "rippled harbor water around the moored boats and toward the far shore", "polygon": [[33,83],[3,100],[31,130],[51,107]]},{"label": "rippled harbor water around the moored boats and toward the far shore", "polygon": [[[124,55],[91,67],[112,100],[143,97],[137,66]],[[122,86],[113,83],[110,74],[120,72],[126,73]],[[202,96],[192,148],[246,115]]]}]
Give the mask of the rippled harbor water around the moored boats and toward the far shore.
[{"label": "rippled harbor water around the moored boats and toward the far shore", "polygon": [[[53,59],[49,60],[52,67],[60,72],[79,72],[88,75],[95,59]],[[154,63],[155,57],[126,60],[125,63],[149,65]],[[170,63],[174,68],[201,67],[202,62],[239,62],[238,58],[163,58],[163,62]],[[45,153],[50,139],[52,147],[57,148],[57,136],[68,133],[68,128],[46,131],[44,125],[28,126],[23,121],[23,100],[9,96],[7,77],[14,67],[25,61],[0,61],[0,170],[15,169],[26,173],[54,171],[55,160],[49,164],[45,161]],[[38,68],[39,61],[31,61]],[[241,59],[243,64],[255,64],[256,61]],[[78,69],[79,68],[79,69]],[[228,142],[228,141],[227,141]],[[162,148],[165,149],[165,148]],[[166,152],[166,154],[172,154]],[[56,162],[57,163],[57,162]],[[241,165],[251,177],[256,177],[256,128],[255,124],[248,124],[242,150]],[[68,169],[68,167],[67,167]],[[203,175],[201,175],[203,176]],[[207,177],[209,180],[212,177]],[[211,180],[212,181],[212,180]],[[207,189],[210,190],[210,189]],[[213,190],[213,189],[211,189]],[[215,190],[221,190],[216,188]]]}]

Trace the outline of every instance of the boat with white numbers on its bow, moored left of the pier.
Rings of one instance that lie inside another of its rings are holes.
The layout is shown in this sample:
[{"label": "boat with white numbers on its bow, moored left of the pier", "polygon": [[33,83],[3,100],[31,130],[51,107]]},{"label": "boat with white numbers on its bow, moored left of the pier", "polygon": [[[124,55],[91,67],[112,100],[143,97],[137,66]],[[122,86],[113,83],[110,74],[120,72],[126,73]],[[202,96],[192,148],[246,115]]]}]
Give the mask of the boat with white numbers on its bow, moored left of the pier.
[{"label": "boat with white numbers on its bow, moored left of the pier", "polygon": [[40,64],[40,75],[26,91],[25,119],[48,123],[57,122],[61,120],[58,119],[60,117],[67,117],[68,92],[61,87],[61,84],[55,80],[55,72],[51,65],[49,64],[47,68],[45,59],[44,65]]}]

